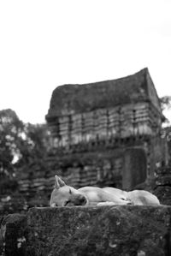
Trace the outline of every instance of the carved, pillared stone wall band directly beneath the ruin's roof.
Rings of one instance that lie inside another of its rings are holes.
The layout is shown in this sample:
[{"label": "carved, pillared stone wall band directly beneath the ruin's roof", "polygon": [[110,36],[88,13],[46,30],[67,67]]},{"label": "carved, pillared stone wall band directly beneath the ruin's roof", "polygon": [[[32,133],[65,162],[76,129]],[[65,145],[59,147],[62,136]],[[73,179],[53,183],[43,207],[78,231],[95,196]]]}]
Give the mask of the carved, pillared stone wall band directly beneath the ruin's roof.
[{"label": "carved, pillared stone wall band directly beneath the ruin's roof", "polygon": [[161,120],[150,103],[123,104],[50,119],[54,147],[158,134]]}]

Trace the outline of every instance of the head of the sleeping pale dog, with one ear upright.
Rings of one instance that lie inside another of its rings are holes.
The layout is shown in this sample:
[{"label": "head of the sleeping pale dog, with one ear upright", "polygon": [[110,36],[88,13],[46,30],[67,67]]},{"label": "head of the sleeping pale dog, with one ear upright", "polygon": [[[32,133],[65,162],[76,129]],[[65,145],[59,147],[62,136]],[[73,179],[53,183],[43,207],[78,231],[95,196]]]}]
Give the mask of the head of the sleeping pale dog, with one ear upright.
[{"label": "head of the sleeping pale dog, with one ear upright", "polygon": [[51,193],[50,206],[86,205],[87,202],[85,195],[67,186],[59,176],[55,176],[55,188]]}]

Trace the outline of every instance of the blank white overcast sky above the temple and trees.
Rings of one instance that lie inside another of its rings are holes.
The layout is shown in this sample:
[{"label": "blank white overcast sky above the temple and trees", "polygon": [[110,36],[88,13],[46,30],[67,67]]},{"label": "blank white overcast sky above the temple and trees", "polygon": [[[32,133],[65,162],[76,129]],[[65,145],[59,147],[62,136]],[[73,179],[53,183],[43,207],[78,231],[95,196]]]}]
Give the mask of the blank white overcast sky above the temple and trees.
[{"label": "blank white overcast sky above the temple and trees", "polygon": [[171,0],[0,1],[0,110],[24,122],[44,122],[56,86],[145,67],[171,95]]}]

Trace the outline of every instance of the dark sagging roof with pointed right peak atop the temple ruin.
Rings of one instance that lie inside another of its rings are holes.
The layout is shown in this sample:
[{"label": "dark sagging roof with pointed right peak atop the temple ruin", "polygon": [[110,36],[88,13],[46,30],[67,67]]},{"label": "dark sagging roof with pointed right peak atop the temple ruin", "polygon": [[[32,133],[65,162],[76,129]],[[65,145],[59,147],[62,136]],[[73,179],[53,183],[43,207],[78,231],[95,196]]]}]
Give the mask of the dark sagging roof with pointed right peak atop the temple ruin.
[{"label": "dark sagging roof with pointed right peak atop the temple ruin", "polygon": [[161,112],[159,99],[148,68],[116,80],[57,86],[52,93],[46,120],[50,121],[55,116],[144,101],[150,101]]}]

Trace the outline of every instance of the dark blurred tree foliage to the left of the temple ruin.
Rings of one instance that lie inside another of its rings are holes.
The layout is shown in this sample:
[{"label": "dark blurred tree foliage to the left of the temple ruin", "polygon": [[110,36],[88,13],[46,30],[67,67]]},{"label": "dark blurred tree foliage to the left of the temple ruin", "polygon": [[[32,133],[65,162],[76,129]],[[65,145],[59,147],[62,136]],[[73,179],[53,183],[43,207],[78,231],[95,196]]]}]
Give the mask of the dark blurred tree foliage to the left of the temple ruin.
[{"label": "dark blurred tree foliage to the left of the temple ruin", "polygon": [[[22,122],[14,110],[0,110],[0,193],[16,187],[17,174],[46,168],[50,131],[46,124]],[[14,184],[14,186],[12,186]]]}]

